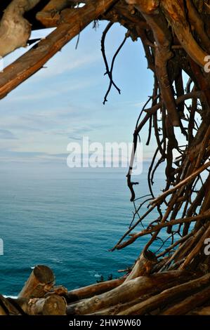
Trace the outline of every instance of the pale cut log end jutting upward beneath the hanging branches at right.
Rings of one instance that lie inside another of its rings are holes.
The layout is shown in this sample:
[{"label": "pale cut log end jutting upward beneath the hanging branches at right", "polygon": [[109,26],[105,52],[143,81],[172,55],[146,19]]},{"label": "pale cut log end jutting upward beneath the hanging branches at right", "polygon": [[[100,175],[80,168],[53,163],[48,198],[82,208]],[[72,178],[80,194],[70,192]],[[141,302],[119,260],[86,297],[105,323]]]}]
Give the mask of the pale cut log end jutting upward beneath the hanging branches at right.
[{"label": "pale cut log end jutting upward beneath the hanging branches at right", "polygon": [[125,282],[142,275],[150,274],[152,267],[156,263],[157,258],[155,256],[155,253],[152,253],[151,251],[143,251],[143,253],[140,254],[138,260],[136,260],[136,263],[133,266],[133,269],[131,270],[130,274],[128,275],[128,277],[126,277]]}]

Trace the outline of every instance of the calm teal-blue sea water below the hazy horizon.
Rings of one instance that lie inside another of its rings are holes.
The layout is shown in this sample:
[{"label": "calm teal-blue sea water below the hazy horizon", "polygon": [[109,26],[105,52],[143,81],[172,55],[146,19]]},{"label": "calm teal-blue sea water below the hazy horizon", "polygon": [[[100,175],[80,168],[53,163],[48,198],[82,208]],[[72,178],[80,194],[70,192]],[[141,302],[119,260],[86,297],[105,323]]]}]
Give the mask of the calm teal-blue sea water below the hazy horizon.
[{"label": "calm teal-blue sea water below the hazy horizon", "polygon": [[[137,178],[137,195],[147,194],[146,171]],[[15,296],[32,267],[45,264],[67,289],[107,279],[133,264],[147,237],[110,252],[127,230],[133,204],[126,169],[68,169],[50,164],[10,164],[0,169],[0,292]],[[164,185],[157,171],[155,190]],[[146,210],[145,204],[143,211]],[[147,221],[155,219],[151,213]],[[140,229],[140,227],[138,227]]]}]

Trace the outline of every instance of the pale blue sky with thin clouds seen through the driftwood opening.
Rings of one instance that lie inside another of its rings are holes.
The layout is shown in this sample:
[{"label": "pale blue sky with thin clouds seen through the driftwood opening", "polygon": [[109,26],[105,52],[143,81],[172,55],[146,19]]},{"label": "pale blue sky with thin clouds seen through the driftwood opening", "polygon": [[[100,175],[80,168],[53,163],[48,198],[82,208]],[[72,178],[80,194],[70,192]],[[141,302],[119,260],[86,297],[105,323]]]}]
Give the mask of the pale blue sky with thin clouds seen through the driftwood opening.
[{"label": "pale blue sky with thin clouds seen through the driftwood opening", "polygon": [[[112,88],[108,102],[103,98],[109,80],[100,51],[100,39],[107,22],[97,29],[89,25],[67,44],[45,67],[1,100],[1,162],[61,161],[67,158],[67,145],[88,136],[92,142],[131,143],[141,107],[152,93],[152,73],[140,40],[127,39],[114,66],[114,81],[122,94]],[[48,30],[48,33],[51,31]],[[32,37],[44,37],[33,32]],[[106,40],[108,61],[124,39],[126,29],[116,24]],[[4,66],[28,48],[4,58]],[[1,79],[1,74],[0,74]],[[147,128],[142,133],[147,138]],[[150,159],[154,143],[143,147],[143,158]]]}]

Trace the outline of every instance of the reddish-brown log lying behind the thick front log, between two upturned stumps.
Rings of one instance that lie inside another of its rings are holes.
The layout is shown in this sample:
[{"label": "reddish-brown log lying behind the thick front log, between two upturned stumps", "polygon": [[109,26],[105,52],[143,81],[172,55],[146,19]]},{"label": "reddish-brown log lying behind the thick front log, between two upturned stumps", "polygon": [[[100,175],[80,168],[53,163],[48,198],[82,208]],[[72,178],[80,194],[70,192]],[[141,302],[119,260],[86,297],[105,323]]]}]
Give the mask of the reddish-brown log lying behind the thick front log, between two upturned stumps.
[{"label": "reddish-brown log lying behind the thick front log, between two upturned stumps", "polygon": [[88,286],[84,286],[83,288],[74,289],[72,291],[67,292],[65,298],[68,303],[73,301],[79,301],[84,298],[91,298],[95,295],[110,291],[120,284],[122,284],[125,280],[125,277],[120,279],[112,279],[111,281],[101,282],[97,284],[91,284]]}]

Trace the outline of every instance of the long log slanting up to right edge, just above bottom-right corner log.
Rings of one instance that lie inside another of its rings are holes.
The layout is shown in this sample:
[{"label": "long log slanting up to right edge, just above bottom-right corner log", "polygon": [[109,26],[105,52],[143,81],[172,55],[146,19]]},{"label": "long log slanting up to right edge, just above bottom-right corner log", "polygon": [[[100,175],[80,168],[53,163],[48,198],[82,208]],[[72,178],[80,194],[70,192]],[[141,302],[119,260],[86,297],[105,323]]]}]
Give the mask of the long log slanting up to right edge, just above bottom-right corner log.
[{"label": "long log slanting up to right edge, just above bottom-right corner log", "polygon": [[201,290],[206,285],[209,286],[209,283],[210,274],[178,286],[173,286],[171,289],[167,289],[156,296],[152,296],[141,303],[131,306],[123,312],[119,312],[119,315],[145,315],[156,308],[172,303],[178,298],[183,299],[186,296],[191,296],[195,291]]}]

